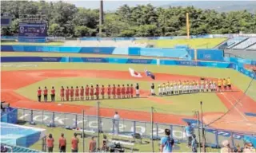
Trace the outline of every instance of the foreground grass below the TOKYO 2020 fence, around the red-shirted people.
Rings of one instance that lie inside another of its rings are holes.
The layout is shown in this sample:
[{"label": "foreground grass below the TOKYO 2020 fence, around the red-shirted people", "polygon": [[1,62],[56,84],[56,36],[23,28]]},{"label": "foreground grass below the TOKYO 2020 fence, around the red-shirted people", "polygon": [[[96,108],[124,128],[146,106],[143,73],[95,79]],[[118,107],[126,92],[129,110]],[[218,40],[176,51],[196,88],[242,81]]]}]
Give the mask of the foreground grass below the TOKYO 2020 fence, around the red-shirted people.
[{"label": "foreground grass below the TOKYO 2020 fence, around the red-shirted people", "polygon": [[[48,128],[44,125],[36,125],[36,126],[32,126],[30,124],[25,124],[26,126],[30,126],[30,127],[37,127],[37,128],[44,128],[46,129],[46,135],[49,135],[50,133],[53,135],[54,137],[54,152],[58,152],[58,139],[60,137],[60,135],[62,133],[65,134],[66,137],[66,151],[70,152],[71,151],[71,145],[70,145],[70,141],[71,138],[74,135],[74,132],[76,131],[71,131],[71,130],[66,130],[64,128]],[[91,135],[91,136],[97,136],[97,134],[90,134],[90,133],[86,133],[87,135]],[[106,135],[107,139],[112,139],[112,135]],[[103,134],[100,134],[100,147],[102,147],[102,138],[103,138]],[[118,136],[114,136],[113,138],[115,139],[123,139],[123,140],[130,140],[127,138],[123,138],[123,137],[118,137]],[[82,151],[82,139],[78,136],[78,139],[80,141],[80,143],[78,143],[78,151]],[[95,138],[95,140],[97,141],[97,138]],[[85,151],[88,152],[89,151],[89,141],[90,141],[90,137],[87,137],[85,139]],[[138,149],[139,152],[152,152],[152,144],[151,144],[151,140],[150,139],[142,139],[142,142],[149,142],[147,144],[139,144],[139,143],[135,143],[134,146],[128,146],[128,145],[124,145],[124,147],[127,148],[134,148],[134,149]],[[159,151],[159,141],[154,140],[154,151]],[[38,151],[42,150],[42,140],[39,140],[37,143],[34,143],[34,145],[32,145],[30,147],[31,149],[35,149]],[[210,152],[218,152],[218,149],[211,149],[211,148],[206,148],[206,151],[210,151]],[[129,152],[131,150],[126,149],[126,152]],[[174,146],[174,152],[190,152],[191,149],[189,147],[186,147],[186,143],[178,143],[175,144]]]}]

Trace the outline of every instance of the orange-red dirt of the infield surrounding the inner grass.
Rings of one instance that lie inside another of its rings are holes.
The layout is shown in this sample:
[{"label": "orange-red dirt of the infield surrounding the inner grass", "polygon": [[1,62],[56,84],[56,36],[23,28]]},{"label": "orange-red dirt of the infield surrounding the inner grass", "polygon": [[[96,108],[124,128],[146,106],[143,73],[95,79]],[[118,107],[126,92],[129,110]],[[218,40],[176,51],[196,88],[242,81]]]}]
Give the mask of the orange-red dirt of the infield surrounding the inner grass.
[{"label": "orange-red dirt of the infield surrounding the inner grass", "polygon": [[[11,106],[17,108],[40,109],[56,112],[72,112],[82,113],[82,110],[87,110],[86,114],[96,115],[96,108],[90,106],[78,106],[72,104],[56,103],[38,103],[34,100],[29,100],[26,97],[15,92],[18,88],[25,87],[29,84],[34,84],[40,80],[50,77],[97,77],[110,78],[118,80],[149,80],[149,77],[133,78],[128,72],[107,71],[107,70],[23,70],[23,71],[2,71],[2,100],[8,101]],[[142,73],[142,75],[144,75]],[[195,80],[199,77],[187,77],[182,75],[170,75],[163,73],[155,74],[158,80]],[[228,115],[224,116],[214,124],[214,128],[222,128],[234,131],[256,131],[256,117],[248,117],[245,112],[256,112],[256,102],[249,96],[243,95],[243,92],[235,88],[238,92],[218,92],[218,98],[222,100],[226,108],[232,108]],[[148,96],[148,91],[142,91],[142,96],[147,96],[149,100],[153,100],[158,104],[165,104],[166,100],[158,97]],[[31,93],[34,94],[34,93]],[[237,103],[238,98],[243,99]],[[237,103],[237,104],[235,104]],[[235,104],[235,105],[234,105]],[[112,117],[116,109],[101,108],[100,116]],[[150,121],[150,112],[138,112],[118,109],[119,114],[124,119]],[[206,113],[204,114],[204,122],[209,124],[211,121],[222,116],[223,113]],[[195,119],[195,116],[178,116],[175,114],[155,113],[154,121],[166,124],[186,124],[182,119]],[[227,124],[228,123],[228,124]],[[241,124],[242,123],[242,124]]]}]

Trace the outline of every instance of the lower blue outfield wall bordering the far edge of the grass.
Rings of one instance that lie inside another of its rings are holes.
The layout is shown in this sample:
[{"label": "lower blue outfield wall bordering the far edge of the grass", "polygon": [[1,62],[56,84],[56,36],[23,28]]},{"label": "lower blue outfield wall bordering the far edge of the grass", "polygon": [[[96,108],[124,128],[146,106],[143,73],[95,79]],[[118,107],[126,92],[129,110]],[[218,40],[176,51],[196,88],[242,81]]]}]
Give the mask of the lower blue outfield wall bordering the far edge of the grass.
[{"label": "lower blue outfield wall bordering the far edge of the grass", "polygon": [[[161,59],[133,59],[113,57],[1,57],[2,62],[90,62],[90,63],[112,63],[112,64],[146,64],[146,65],[185,65],[202,66],[221,69],[234,69],[245,74],[247,77],[256,79],[254,71],[250,71],[242,65],[242,61],[236,58],[226,58],[228,62],[212,61],[178,61]],[[159,62],[158,62],[159,61]],[[256,61],[244,61],[250,65],[256,65]]]}]

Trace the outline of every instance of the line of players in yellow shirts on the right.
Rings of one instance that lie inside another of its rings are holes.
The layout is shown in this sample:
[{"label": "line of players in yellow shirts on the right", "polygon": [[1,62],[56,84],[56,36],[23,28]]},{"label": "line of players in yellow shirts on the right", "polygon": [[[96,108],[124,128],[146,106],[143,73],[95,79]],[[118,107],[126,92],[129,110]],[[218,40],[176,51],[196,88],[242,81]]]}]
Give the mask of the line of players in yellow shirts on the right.
[{"label": "line of players in yellow shirts on the right", "polygon": [[[158,95],[173,95],[192,92],[220,92],[222,90],[231,90],[230,78],[218,79],[218,86],[216,80],[175,80],[172,82],[158,84]],[[154,95],[151,92],[152,95]]]}]

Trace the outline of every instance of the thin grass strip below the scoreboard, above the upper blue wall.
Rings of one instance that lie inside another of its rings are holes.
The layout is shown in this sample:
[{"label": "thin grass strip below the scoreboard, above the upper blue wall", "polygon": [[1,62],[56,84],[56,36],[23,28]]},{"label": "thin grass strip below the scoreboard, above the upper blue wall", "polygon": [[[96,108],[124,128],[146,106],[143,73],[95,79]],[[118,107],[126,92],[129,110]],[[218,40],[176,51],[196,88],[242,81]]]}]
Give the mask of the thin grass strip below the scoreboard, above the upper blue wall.
[{"label": "thin grass strip below the scoreboard, above the upper blue wall", "polygon": [[46,43],[36,43],[36,42],[6,42],[1,41],[1,45],[63,45],[64,42],[46,42]]}]

